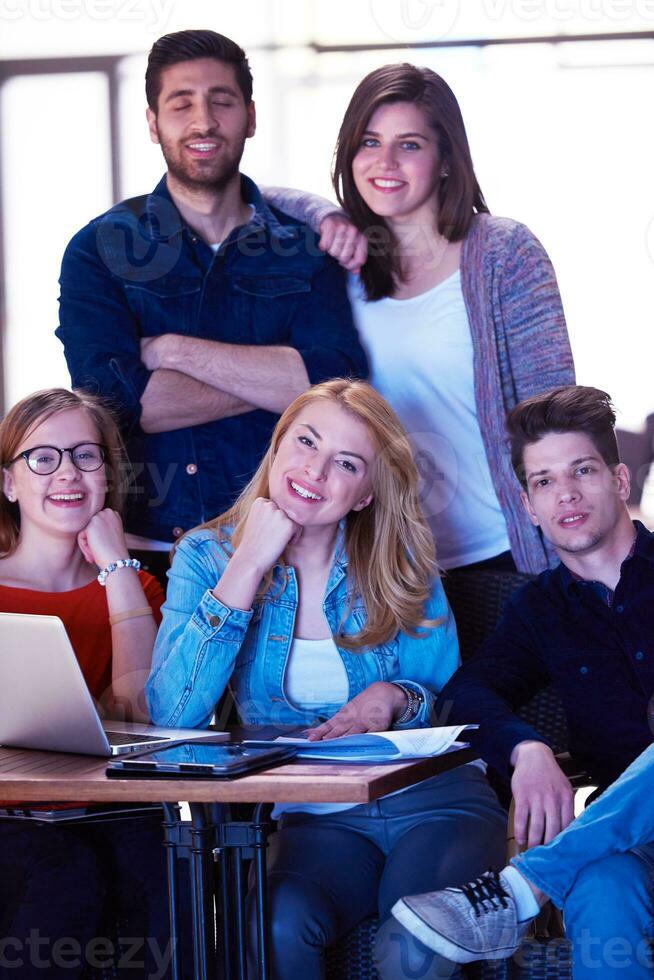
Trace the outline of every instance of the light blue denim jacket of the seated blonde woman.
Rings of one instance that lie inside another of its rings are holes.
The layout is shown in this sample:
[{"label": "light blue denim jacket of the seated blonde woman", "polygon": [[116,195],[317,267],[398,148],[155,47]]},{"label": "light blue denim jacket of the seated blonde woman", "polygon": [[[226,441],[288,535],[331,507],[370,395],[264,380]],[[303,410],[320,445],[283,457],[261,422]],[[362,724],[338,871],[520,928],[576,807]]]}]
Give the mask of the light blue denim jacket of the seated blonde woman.
[{"label": "light blue denim jacket of the seated blonde woman", "polygon": [[[281,591],[284,570],[276,566],[270,589],[245,612],[230,609],[212,595],[228,560],[226,546],[211,530],[194,531],[177,549],[146,685],[152,720],[159,725],[205,727],[229,685],[245,724],[310,724],[315,716],[294,707],[284,692],[298,606],[295,570],[286,567],[288,578]],[[363,603],[355,596],[342,623],[349,607],[341,532],[323,599],[336,642],[340,630],[356,633],[365,622]],[[456,625],[438,579],[425,617],[442,617],[442,621],[422,630],[421,636],[398,633],[362,653],[338,647],[349,684],[347,700],[374,681],[401,681],[424,698],[420,714],[406,727],[430,723],[435,696],[459,664]],[[331,715],[339,707],[324,705],[316,713]]]}]

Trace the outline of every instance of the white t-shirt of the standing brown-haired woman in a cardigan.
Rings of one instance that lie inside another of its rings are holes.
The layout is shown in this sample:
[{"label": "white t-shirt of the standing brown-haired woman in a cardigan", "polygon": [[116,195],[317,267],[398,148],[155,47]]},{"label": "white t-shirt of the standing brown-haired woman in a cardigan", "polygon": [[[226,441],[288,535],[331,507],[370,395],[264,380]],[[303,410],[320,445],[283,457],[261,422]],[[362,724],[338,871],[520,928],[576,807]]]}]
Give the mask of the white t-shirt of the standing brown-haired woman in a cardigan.
[{"label": "white t-shirt of the standing brown-haired woman in a cardigan", "polygon": [[411,299],[367,302],[355,276],[348,291],[370,383],[393,406],[414,448],[439,565],[457,568],[508,551],[477,420],[459,271]]}]

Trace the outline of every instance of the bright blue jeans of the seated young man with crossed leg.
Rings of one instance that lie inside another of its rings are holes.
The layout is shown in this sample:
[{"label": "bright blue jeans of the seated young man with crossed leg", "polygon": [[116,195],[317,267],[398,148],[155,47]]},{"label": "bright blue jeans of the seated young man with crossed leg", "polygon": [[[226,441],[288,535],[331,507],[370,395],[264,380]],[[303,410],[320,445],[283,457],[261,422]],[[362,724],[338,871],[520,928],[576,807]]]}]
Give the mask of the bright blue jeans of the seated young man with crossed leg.
[{"label": "bright blue jeans of the seated young man with crossed leg", "polygon": [[574,980],[652,980],[654,745],[558,837],[512,863],[563,909]]}]

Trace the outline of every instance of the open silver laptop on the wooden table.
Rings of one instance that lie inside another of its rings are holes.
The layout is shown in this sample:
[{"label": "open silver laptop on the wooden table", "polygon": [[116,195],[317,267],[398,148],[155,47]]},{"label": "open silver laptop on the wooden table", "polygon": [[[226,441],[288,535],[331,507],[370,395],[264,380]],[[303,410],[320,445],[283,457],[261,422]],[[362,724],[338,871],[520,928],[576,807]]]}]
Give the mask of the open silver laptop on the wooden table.
[{"label": "open silver laptop on the wooden table", "polygon": [[0,613],[0,744],[115,756],[225,732],[102,721],[57,616]]}]

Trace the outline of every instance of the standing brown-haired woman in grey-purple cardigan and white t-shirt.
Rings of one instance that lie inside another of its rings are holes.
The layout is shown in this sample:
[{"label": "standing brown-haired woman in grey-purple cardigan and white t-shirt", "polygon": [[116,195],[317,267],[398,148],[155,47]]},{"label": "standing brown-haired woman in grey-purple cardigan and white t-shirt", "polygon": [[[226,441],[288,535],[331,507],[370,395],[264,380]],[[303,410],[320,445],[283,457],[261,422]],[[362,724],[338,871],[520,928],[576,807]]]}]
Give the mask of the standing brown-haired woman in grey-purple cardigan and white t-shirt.
[{"label": "standing brown-haired woman in grey-purple cardigan and white t-shirt", "polygon": [[[370,381],[411,438],[440,565],[542,571],[548,554],[520,505],[504,419],[574,382],[547,254],[524,225],[488,213],[459,105],[428,68],[385,65],[363,79],[333,178],[353,226],[326,218],[321,244],[361,267],[350,299]],[[319,213],[293,193],[273,200]]]}]

